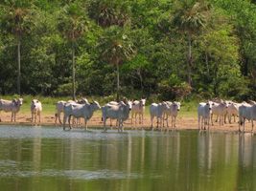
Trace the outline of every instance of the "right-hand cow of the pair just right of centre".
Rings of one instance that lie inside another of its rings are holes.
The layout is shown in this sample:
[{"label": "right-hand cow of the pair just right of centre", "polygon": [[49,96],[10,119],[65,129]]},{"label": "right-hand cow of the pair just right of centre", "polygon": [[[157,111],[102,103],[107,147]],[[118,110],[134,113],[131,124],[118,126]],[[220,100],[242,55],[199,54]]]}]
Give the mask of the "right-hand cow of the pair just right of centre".
[{"label": "right-hand cow of the pair just right of centre", "polygon": [[[180,102],[176,102],[176,101],[175,102],[166,101],[166,102],[169,105],[169,108],[164,111],[164,117],[166,116],[166,125],[167,125],[167,128],[169,128],[169,124],[168,124],[169,120],[168,119],[169,119],[169,117],[171,117],[172,128],[174,128],[174,127],[176,127],[177,113],[180,110]],[[163,124],[163,126],[164,126],[164,124]]]}]

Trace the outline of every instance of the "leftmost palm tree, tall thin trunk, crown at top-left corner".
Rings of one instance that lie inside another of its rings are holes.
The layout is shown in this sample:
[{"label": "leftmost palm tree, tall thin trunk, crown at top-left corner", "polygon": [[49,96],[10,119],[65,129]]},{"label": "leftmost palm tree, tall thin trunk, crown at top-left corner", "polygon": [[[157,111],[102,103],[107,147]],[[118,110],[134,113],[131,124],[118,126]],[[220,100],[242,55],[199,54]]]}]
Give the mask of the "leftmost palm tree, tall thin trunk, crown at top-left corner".
[{"label": "leftmost palm tree, tall thin trunk, crown at top-left corner", "polygon": [[32,4],[29,0],[20,0],[5,1],[1,6],[5,11],[1,28],[12,33],[17,41],[17,94],[20,95],[20,47],[22,36],[30,32],[33,25]]}]

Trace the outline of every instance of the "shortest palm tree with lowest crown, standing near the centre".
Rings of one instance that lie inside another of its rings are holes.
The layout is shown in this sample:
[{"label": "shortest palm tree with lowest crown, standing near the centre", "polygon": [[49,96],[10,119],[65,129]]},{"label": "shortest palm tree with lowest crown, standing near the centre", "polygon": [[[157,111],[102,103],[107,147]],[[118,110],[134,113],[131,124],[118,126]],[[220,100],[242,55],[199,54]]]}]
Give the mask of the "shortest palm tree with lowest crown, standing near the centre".
[{"label": "shortest palm tree with lowest crown, standing near the centre", "polygon": [[116,67],[117,100],[120,96],[120,65],[129,60],[134,54],[132,41],[128,38],[127,29],[118,26],[109,27],[101,39],[100,50],[105,62]]}]

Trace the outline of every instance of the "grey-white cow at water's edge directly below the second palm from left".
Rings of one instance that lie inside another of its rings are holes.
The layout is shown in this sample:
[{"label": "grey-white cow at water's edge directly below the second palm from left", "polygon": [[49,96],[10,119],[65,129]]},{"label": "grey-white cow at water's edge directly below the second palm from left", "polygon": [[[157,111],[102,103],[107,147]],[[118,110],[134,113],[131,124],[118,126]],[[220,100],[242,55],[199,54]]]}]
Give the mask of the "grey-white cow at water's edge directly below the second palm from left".
[{"label": "grey-white cow at water's edge directly below the second palm from left", "polygon": [[84,103],[84,104],[73,104],[67,103],[64,106],[64,117],[63,117],[63,130],[65,130],[65,123],[68,117],[68,124],[69,128],[71,129],[70,125],[70,118],[73,117],[83,117],[85,123],[85,130],[87,130],[87,121],[92,117],[93,113],[96,110],[101,109],[100,104],[97,101],[93,101],[92,103]]}]

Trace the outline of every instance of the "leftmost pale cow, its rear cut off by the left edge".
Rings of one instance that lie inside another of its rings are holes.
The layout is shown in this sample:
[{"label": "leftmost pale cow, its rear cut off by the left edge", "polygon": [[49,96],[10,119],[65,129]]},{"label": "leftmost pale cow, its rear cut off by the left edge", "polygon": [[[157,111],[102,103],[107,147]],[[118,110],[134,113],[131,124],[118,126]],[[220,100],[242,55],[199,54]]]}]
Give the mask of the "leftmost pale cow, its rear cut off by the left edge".
[{"label": "leftmost pale cow, its rear cut off by the left edge", "polygon": [[[0,112],[11,112],[12,113],[12,121],[16,121],[16,114],[19,112],[20,107],[23,103],[23,98],[14,98],[11,100],[5,100],[5,99],[0,99]],[[0,122],[1,122],[1,117],[0,117]]]}]

